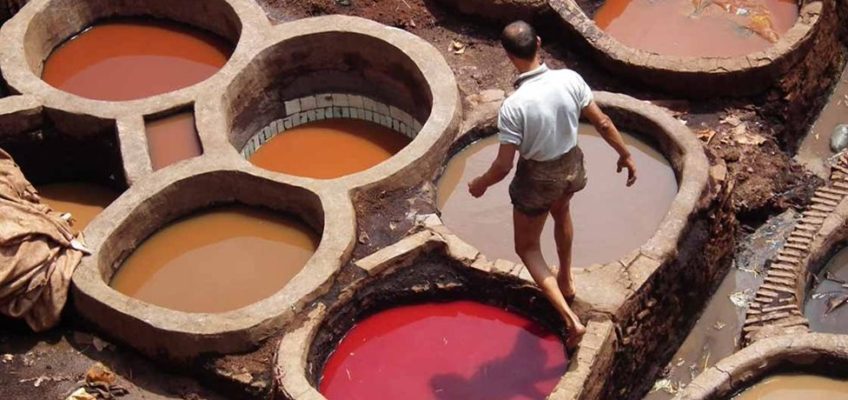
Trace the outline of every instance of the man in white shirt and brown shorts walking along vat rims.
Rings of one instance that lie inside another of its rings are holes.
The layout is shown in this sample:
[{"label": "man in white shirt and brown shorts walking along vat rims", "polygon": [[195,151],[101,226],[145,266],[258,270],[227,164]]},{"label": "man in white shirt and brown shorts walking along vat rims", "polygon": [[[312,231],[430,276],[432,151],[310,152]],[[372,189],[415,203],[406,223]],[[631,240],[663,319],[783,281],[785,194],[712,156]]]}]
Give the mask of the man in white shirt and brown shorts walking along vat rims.
[{"label": "man in white shirt and brown shorts walking along vat rims", "polygon": [[[508,25],[501,44],[520,75],[516,91],[498,114],[500,149],[489,170],[468,184],[474,197],[503,180],[521,157],[509,186],[515,225],[515,251],[530,275],[565,320],[566,348],[577,347],[586,328],[568,303],[574,299],[571,276],[570,202],[586,186],[583,153],[577,146],[582,115],[618,152],[618,172],[627,169],[627,186],[636,182],[636,166],[612,120],[592,99],[592,90],[576,72],[551,70],[541,63],[541,39],[523,21]],[[547,216],[554,219],[554,239],[560,268],[554,276],[542,256],[540,236]]]}]

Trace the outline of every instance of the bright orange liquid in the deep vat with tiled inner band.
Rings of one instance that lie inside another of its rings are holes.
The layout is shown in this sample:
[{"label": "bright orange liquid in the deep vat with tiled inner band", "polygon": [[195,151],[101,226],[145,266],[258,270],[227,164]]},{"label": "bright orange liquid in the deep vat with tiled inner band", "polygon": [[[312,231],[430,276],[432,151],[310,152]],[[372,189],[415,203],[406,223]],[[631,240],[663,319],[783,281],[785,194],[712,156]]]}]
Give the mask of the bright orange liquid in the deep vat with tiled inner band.
[{"label": "bright orange liquid in the deep vat with tiled inner band", "polygon": [[382,125],[356,119],[312,122],[287,130],[250,158],[271,171],[332,179],[371,168],[409,144]]}]

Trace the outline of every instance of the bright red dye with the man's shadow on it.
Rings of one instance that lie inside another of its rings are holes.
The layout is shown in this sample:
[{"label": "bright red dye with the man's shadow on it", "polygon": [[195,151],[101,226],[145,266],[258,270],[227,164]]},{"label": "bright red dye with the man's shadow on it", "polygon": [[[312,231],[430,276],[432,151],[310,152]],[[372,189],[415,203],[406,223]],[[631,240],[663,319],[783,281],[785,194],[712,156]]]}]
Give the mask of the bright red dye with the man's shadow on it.
[{"label": "bright red dye with the man's shadow on it", "polygon": [[356,325],[324,368],[328,399],[544,399],[565,374],[541,326],[468,301],[404,306]]}]

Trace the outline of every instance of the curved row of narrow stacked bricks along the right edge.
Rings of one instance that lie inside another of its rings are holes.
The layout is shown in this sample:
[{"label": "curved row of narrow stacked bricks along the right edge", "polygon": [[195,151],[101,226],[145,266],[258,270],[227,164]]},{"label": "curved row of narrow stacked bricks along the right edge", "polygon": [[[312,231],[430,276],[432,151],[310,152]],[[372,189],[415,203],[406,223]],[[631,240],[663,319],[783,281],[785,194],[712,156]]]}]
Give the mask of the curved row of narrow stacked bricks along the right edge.
[{"label": "curved row of narrow stacked bricks along the right edge", "polygon": [[[748,306],[742,330],[750,344],[767,336],[804,333],[809,330],[801,305],[806,272],[812,263],[814,243],[823,236],[825,220],[848,197],[848,153],[832,166],[828,185],[816,190],[812,202],[790,233],[766,273],[765,282]],[[803,281],[799,283],[800,281]]]}]

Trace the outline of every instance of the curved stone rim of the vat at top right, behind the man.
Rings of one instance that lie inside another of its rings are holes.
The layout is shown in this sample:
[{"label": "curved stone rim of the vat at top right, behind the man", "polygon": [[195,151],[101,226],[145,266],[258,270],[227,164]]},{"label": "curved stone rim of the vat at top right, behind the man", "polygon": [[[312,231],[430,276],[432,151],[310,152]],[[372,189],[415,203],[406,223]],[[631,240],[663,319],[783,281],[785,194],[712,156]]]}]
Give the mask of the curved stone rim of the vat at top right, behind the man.
[{"label": "curved stone rim of the vat at top right, behind the man", "polygon": [[805,2],[795,25],[768,49],[740,57],[677,57],[620,43],[574,0],[550,0],[570,36],[580,40],[609,70],[684,97],[745,96],[763,91],[817,44],[823,18],[834,19],[834,0]]}]

